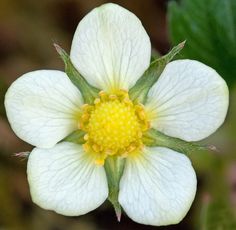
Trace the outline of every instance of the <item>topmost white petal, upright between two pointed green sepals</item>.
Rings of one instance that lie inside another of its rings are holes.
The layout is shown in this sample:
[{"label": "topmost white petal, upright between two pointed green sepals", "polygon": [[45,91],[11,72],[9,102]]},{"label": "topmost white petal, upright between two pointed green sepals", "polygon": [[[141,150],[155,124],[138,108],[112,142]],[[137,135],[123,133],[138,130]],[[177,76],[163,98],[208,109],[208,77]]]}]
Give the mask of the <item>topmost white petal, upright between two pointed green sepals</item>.
[{"label": "topmost white petal, upright between two pointed green sepals", "polygon": [[128,89],[148,68],[151,44],[133,13],[109,3],[95,8],[79,23],[70,56],[95,87]]}]

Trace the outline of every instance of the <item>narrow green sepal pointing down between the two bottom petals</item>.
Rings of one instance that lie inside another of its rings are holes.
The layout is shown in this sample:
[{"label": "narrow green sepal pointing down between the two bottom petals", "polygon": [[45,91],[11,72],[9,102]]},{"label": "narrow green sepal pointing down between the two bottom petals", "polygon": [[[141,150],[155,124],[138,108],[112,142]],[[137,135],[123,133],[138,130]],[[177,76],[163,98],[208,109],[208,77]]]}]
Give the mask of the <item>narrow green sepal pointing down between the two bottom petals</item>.
[{"label": "narrow green sepal pointing down between the two bottom petals", "polygon": [[122,209],[118,201],[120,179],[123,175],[125,158],[110,156],[105,161],[105,171],[107,175],[109,196],[108,200],[114,207],[117,220],[120,221]]}]

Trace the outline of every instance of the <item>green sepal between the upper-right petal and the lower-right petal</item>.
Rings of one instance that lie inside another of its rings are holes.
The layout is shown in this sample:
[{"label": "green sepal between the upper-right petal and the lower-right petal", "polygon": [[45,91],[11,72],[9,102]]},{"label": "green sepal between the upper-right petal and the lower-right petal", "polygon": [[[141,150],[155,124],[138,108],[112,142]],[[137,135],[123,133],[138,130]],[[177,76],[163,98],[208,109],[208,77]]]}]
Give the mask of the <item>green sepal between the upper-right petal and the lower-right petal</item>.
[{"label": "green sepal between the upper-right petal and the lower-right petal", "polygon": [[179,138],[167,136],[155,129],[149,129],[143,134],[143,143],[151,147],[159,146],[170,148],[184,154],[190,154],[191,152],[199,150],[216,151],[214,146],[201,146],[196,142],[187,142]]}]

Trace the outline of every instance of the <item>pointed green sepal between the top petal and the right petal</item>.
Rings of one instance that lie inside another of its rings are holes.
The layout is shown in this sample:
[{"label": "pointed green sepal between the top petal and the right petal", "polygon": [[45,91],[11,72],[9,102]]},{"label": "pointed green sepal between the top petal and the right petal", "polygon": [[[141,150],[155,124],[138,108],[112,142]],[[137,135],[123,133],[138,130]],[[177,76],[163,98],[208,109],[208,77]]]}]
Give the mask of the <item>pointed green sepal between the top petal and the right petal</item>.
[{"label": "pointed green sepal between the top petal and the right petal", "polygon": [[140,103],[145,103],[150,88],[158,80],[166,65],[178,54],[184,47],[185,41],[175,46],[168,54],[154,60],[149,68],[144,72],[141,78],[130,89],[130,98]]}]

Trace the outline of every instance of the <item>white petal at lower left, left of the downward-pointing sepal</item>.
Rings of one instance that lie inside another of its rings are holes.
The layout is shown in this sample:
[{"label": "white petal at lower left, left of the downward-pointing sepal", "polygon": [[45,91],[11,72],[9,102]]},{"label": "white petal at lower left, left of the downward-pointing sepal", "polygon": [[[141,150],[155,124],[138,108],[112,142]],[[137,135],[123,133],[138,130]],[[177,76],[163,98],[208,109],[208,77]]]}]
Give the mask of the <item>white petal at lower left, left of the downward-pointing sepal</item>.
[{"label": "white petal at lower left, left of the downward-pointing sepal", "polygon": [[105,170],[80,145],[62,142],[51,149],[35,148],[28,160],[33,201],[67,216],[100,206],[108,196]]}]

